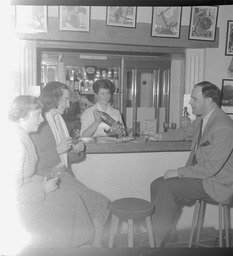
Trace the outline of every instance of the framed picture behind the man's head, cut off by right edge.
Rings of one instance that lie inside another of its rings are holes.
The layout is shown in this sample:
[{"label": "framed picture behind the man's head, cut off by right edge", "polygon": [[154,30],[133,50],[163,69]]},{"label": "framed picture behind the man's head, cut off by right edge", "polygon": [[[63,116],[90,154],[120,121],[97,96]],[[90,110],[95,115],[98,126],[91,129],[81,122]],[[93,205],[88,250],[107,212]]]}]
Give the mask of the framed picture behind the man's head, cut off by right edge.
[{"label": "framed picture behind the man's head, cut off by right edge", "polygon": [[221,108],[227,114],[233,114],[233,79],[222,80]]}]

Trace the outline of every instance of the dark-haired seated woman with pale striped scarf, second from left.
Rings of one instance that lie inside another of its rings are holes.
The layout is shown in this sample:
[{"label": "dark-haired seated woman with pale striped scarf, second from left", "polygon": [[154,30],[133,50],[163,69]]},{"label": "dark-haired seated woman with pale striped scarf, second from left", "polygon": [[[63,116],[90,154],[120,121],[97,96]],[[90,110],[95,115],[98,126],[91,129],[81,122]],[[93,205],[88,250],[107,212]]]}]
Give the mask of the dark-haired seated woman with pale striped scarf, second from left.
[{"label": "dark-haired seated woman with pale striped scarf, second from left", "polygon": [[[75,194],[82,200],[85,211],[80,208],[80,212],[87,214],[94,226],[92,245],[100,247],[104,224],[109,216],[109,200],[104,195],[86,187],[72,173],[69,155],[82,151],[84,145],[82,142],[76,145],[72,143],[72,138],[61,116],[69,107],[69,88],[60,82],[50,82],[42,89],[39,99],[44,105],[45,123],[41,125],[38,133],[31,135],[38,154],[37,174],[51,176],[54,175],[52,169],[57,170],[55,174],[60,172],[59,187],[68,194],[71,193],[71,197]],[[80,161],[78,154],[76,155],[77,160]]]}]

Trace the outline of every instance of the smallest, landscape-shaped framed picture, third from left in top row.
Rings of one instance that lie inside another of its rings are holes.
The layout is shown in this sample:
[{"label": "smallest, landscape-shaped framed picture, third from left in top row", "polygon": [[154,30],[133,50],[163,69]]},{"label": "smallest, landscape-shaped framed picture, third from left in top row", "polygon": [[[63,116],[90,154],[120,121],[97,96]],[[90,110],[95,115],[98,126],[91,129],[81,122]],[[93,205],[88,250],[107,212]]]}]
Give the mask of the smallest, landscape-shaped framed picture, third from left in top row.
[{"label": "smallest, landscape-shaped framed picture, third from left in top row", "polygon": [[133,6],[108,6],[107,26],[136,27],[137,7]]}]

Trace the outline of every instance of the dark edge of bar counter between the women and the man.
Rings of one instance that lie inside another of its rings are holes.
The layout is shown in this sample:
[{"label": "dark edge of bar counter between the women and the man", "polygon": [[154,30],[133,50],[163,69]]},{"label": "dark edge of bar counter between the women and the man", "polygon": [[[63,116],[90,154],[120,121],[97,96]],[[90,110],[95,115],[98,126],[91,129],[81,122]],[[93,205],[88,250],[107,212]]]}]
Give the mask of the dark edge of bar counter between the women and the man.
[{"label": "dark edge of bar counter between the women and the man", "polygon": [[86,143],[87,154],[190,151],[190,141]]}]

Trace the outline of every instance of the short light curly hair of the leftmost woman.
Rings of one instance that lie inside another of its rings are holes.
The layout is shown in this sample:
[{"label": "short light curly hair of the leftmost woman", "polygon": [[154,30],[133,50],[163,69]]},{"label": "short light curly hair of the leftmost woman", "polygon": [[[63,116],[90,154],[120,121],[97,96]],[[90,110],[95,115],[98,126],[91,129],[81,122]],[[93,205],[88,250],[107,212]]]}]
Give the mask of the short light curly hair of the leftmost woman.
[{"label": "short light curly hair of the leftmost woman", "polygon": [[30,95],[20,95],[14,99],[9,111],[9,119],[18,122],[20,118],[25,118],[29,112],[42,109],[42,102]]}]

